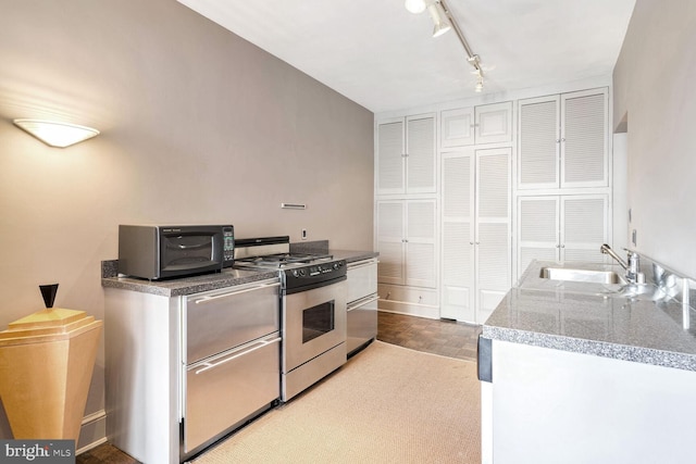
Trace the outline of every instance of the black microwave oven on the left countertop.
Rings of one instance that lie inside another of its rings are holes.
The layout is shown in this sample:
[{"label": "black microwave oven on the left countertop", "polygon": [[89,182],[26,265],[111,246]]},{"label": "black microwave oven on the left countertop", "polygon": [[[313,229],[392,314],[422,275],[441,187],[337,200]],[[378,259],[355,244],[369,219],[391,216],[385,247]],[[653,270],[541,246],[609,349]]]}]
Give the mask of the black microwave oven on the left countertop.
[{"label": "black microwave oven on the left countertop", "polygon": [[231,225],[119,226],[119,273],[158,280],[220,272],[234,264]]}]

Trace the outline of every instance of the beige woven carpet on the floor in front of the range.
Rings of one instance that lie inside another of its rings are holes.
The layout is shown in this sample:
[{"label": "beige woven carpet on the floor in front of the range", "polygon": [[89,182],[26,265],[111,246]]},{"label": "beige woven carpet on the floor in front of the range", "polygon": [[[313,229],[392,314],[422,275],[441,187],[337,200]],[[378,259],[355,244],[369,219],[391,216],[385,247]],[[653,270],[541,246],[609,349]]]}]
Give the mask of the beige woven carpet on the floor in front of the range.
[{"label": "beige woven carpet on the floor in front of the range", "polygon": [[472,362],[375,341],[195,463],[480,463],[480,392]]}]

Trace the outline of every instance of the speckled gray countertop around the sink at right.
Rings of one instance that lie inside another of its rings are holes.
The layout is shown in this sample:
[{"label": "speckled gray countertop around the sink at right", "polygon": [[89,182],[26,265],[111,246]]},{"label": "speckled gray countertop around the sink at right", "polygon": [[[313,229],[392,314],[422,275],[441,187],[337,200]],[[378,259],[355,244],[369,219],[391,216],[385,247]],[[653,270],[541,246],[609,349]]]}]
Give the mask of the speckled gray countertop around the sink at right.
[{"label": "speckled gray countertop around the sink at right", "polygon": [[655,286],[626,298],[619,285],[540,278],[548,265],[563,266],[534,262],[488,317],[483,337],[696,371],[696,312],[687,304],[657,299]]}]

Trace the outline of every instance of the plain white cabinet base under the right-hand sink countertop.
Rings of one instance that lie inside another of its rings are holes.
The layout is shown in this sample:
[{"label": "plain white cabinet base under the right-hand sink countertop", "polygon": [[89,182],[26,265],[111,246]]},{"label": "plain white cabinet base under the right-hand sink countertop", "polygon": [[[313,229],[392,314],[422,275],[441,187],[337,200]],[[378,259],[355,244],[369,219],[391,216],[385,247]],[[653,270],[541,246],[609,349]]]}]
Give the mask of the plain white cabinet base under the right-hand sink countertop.
[{"label": "plain white cabinet base under the right-hand sink countertop", "polygon": [[484,463],[691,463],[696,373],[493,340]]}]

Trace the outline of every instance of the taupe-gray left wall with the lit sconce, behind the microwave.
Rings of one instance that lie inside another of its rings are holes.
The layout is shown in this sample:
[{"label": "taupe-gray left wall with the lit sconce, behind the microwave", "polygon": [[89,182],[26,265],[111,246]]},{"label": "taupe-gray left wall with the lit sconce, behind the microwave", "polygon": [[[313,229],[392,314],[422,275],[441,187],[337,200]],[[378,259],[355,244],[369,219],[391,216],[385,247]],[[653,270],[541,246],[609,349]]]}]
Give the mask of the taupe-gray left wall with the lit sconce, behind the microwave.
[{"label": "taupe-gray left wall with the lit sconce, behind the microwave", "polygon": [[[51,149],[17,117],[102,134]],[[372,217],[364,108],[174,0],[0,0],[0,330],[53,281],[57,306],[102,318],[122,223],[372,249]],[[103,346],[88,414],[102,397]]]}]

